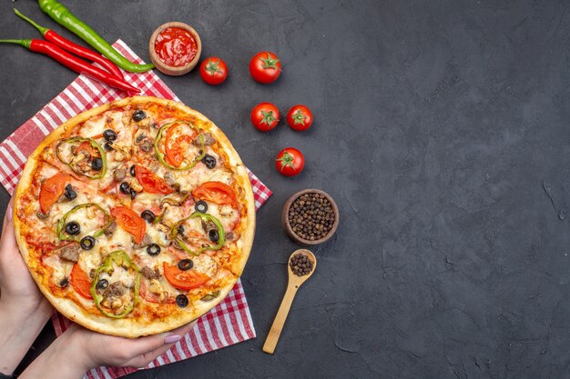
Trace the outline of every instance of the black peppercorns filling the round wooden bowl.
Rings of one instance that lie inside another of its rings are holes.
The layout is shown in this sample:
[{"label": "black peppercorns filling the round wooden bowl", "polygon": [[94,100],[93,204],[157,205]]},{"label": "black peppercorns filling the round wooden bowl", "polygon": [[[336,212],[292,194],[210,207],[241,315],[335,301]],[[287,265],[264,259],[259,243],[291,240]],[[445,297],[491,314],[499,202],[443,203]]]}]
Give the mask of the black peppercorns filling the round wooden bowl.
[{"label": "black peppercorns filling the round wooden bowl", "polygon": [[332,204],[324,194],[302,194],[290,206],[289,224],[294,234],[318,241],[334,224]]}]

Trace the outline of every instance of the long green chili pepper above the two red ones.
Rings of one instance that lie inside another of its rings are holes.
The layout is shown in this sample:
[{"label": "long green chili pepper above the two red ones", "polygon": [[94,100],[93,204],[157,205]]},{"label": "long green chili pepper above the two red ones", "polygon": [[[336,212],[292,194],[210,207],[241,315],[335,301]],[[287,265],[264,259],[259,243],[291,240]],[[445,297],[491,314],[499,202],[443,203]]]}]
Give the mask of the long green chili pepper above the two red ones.
[{"label": "long green chili pepper above the two red ones", "polygon": [[154,65],[137,65],[129,61],[121,55],[115,48],[107,43],[100,35],[97,35],[91,26],[79,20],[64,6],[56,0],[39,0],[39,6],[42,11],[53,18],[57,24],[67,28],[70,32],[75,33],[79,38],[83,39],[87,44],[93,46],[99,53],[107,56],[107,58],[131,73],[144,73],[154,68]]}]

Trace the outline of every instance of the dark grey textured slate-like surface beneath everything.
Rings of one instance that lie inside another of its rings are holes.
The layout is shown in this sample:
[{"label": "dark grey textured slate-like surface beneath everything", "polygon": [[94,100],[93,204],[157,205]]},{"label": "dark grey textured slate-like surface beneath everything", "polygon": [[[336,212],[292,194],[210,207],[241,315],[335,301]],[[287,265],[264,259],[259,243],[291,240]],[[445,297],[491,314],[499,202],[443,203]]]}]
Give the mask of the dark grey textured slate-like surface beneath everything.
[{"label": "dark grey textured slate-like surface beneath everything", "polygon": [[[569,377],[567,2],[65,4],[141,56],[158,25],[193,25],[203,56],[228,62],[229,80],[161,77],[275,192],[243,274],[259,337],[131,378]],[[0,5],[0,35],[36,36],[12,5]],[[62,30],[35,2],[16,5]],[[263,49],[283,62],[273,85],[249,78]],[[0,56],[4,138],[75,74],[16,46]],[[260,134],[249,110],[261,101],[282,113],[304,103],[316,122],[307,133],[281,123]],[[293,179],[273,166],[287,145],[307,159]],[[298,247],[280,208],[307,187],[334,196],[341,225],[314,249],[318,270],[271,356],[261,345]],[[52,338],[46,327],[32,355]]]}]

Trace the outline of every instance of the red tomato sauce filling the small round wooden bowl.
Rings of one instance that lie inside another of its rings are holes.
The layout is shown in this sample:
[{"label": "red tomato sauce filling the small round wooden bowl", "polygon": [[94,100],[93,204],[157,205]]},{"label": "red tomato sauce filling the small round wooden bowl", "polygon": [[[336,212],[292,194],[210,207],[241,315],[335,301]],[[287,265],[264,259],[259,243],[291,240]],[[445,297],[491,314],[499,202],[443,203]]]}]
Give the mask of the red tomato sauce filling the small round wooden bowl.
[{"label": "red tomato sauce filling the small round wooden bowl", "polygon": [[181,67],[194,59],[198,53],[198,43],[188,30],[167,27],[158,34],[155,50],[166,65]]}]

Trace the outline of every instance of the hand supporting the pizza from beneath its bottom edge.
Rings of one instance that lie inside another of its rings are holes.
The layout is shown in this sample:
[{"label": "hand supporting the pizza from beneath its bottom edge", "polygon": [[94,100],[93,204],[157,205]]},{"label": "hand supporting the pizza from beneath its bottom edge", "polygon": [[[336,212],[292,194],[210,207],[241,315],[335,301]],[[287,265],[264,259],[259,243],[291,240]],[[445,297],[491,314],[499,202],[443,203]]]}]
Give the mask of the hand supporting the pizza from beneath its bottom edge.
[{"label": "hand supporting the pizza from beneath its bottom edge", "polygon": [[87,370],[100,365],[145,367],[184,338],[195,324],[186,324],[170,333],[136,339],[99,334],[72,324],[25,369],[20,378],[79,378]]}]

